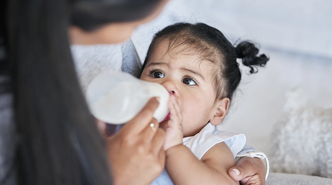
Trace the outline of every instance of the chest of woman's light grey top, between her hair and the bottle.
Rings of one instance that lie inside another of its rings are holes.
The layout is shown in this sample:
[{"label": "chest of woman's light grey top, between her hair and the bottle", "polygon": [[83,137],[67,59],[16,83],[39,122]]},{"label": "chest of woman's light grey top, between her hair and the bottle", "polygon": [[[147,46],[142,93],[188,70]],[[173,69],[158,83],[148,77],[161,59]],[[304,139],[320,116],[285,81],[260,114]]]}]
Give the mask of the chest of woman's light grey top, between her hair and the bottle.
[{"label": "chest of woman's light grey top, between her hair and the bottle", "polygon": [[83,93],[91,81],[107,71],[123,71],[139,78],[142,64],[131,40],[122,44],[71,46]]}]

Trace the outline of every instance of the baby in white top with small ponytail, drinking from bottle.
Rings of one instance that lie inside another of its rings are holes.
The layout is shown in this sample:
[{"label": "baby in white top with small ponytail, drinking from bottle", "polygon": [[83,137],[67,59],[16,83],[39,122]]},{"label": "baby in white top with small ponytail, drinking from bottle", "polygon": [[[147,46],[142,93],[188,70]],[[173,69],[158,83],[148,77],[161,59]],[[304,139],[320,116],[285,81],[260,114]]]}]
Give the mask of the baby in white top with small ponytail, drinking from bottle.
[{"label": "baby in white top with small ponytail, drinking from bottle", "polygon": [[166,171],[152,184],[239,184],[227,171],[245,144],[243,134],[219,131],[241,81],[237,59],[250,73],[265,66],[265,55],[250,42],[234,47],[203,23],[177,23],[159,31],[148,49],[140,79],[172,95],[166,131]]}]

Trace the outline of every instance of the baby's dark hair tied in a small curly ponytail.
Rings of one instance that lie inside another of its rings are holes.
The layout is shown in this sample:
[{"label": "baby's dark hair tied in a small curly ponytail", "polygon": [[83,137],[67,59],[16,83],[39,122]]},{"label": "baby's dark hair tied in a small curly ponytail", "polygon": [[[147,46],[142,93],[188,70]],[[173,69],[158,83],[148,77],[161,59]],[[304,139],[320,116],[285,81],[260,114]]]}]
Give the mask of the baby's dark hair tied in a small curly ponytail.
[{"label": "baby's dark hair tied in a small curly ponytail", "polygon": [[155,34],[148,49],[143,69],[149,61],[153,49],[158,44],[168,41],[169,47],[187,46],[188,54],[201,54],[202,60],[208,60],[218,66],[213,71],[215,99],[228,97],[230,100],[240,84],[241,71],[237,59],[250,68],[250,73],[257,73],[257,66],[264,67],[269,58],[262,54],[253,43],[244,41],[233,46],[216,28],[204,23],[176,23]]}]

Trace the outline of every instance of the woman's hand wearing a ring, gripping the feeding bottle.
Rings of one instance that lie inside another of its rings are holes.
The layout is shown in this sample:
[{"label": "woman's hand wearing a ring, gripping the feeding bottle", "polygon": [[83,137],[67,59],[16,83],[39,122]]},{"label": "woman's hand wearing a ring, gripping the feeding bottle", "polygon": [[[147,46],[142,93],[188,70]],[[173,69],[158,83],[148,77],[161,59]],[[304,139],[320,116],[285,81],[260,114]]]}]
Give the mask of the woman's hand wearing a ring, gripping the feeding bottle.
[{"label": "woman's hand wearing a ring, gripping the feeding bottle", "polygon": [[[151,98],[145,107],[116,134],[106,139],[114,183],[150,184],[165,167],[162,146],[165,131],[158,128],[153,113],[159,101]],[[150,127],[150,123],[155,125]]]}]

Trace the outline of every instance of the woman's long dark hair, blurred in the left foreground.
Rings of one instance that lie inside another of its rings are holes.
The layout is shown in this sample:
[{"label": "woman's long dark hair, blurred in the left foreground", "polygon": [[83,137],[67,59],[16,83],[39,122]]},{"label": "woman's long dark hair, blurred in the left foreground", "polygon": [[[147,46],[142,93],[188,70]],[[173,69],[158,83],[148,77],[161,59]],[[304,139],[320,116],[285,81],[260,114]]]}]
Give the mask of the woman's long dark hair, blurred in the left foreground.
[{"label": "woman's long dark hair, blurred in the left foreground", "polygon": [[141,19],[159,2],[2,1],[0,77],[9,81],[0,93],[14,96],[19,184],[111,184],[105,146],[77,81],[68,27],[90,31]]}]

